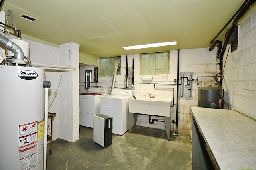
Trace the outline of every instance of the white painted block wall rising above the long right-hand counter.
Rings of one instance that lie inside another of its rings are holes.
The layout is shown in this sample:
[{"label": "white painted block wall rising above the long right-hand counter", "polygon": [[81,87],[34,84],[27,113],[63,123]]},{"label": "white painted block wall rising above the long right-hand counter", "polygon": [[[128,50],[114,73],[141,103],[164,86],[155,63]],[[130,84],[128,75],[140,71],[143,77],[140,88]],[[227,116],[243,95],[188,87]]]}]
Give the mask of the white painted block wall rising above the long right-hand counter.
[{"label": "white painted block wall rising above the long right-hand counter", "polygon": [[238,44],[224,54],[225,100],[230,109],[256,119],[256,10],[240,23]]}]

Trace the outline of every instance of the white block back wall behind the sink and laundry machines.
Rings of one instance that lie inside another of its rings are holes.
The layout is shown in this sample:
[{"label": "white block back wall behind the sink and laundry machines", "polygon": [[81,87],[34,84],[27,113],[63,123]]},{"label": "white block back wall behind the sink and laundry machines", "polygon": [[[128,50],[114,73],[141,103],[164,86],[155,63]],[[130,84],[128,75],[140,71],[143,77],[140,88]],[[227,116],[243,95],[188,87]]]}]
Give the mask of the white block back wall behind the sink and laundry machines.
[{"label": "white block back wall behind the sink and laundry machines", "polygon": [[[140,55],[128,55],[128,67],[132,67],[132,59],[134,59],[134,95],[145,96],[148,93],[155,95],[156,97],[170,97],[173,98],[174,107],[171,108],[171,119],[176,121],[176,91],[177,85],[174,84],[174,79],[177,78],[177,50],[170,51],[170,74],[168,75],[140,75]],[[219,68],[216,65],[216,49],[209,51],[208,48],[202,49],[184,49],[180,50],[180,72],[194,72],[193,79],[197,76],[214,76],[215,72],[219,72]],[[88,68],[88,67],[87,67]],[[121,75],[116,76],[116,82],[122,82],[116,84],[116,88],[124,88],[124,75],[126,73],[126,55],[121,55]],[[81,70],[81,68],[80,68]],[[84,70],[84,69],[83,69]],[[84,73],[83,73],[84,76]],[[142,81],[142,76],[153,76],[151,81]],[[112,82],[112,77],[98,77],[99,82]],[[215,86],[213,78],[200,79],[199,87],[208,85]],[[145,84],[146,83],[146,84]],[[155,89],[154,83],[169,84],[164,87],[171,87],[174,89]],[[98,83],[102,85],[102,83]],[[197,106],[197,81],[193,81],[192,100],[179,99],[178,108],[178,132],[189,133],[192,129],[192,115],[190,113],[190,106]],[[111,86],[111,84],[106,84]],[[110,89],[109,89],[110,92]],[[173,96],[174,93],[174,96]],[[151,117],[151,119],[161,117]],[[138,115],[137,125],[151,128],[165,129],[164,122],[155,122],[153,125],[148,123],[148,116]],[[171,124],[171,130],[173,125]]]}]

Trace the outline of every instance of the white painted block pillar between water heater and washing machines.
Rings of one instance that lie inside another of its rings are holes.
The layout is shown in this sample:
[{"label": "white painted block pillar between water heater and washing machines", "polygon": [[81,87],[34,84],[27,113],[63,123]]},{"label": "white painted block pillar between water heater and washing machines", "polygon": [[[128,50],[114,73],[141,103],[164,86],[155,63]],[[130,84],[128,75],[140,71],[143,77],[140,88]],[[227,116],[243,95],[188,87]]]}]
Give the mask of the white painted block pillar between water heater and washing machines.
[{"label": "white painted block pillar between water heater and washing machines", "polygon": [[[79,68],[79,45],[66,43],[59,47],[60,65]],[[79,69],[66,72],[60,82],[59,138],[79,139]]]}]

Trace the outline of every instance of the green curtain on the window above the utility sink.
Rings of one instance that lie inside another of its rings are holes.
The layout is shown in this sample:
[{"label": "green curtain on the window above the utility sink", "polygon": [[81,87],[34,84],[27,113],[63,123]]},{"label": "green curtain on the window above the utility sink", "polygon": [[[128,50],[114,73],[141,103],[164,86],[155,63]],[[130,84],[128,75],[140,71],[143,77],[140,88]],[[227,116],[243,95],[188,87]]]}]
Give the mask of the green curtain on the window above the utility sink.
[{"label": "green curtain on the window above the utility sink", "polygon": [[169,74],[169,52],[140,54],[140,74]]}]

